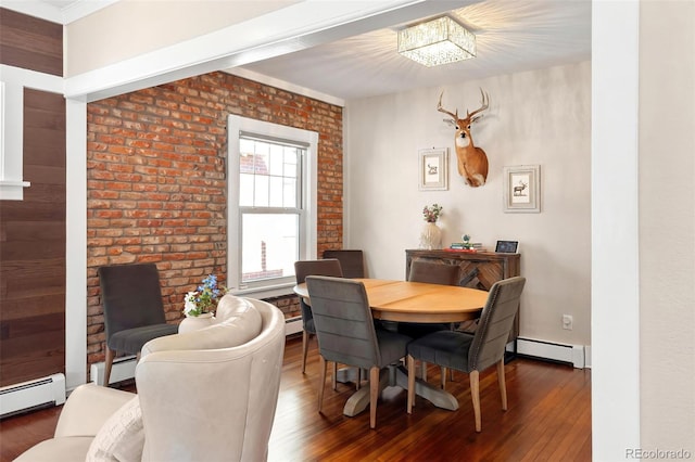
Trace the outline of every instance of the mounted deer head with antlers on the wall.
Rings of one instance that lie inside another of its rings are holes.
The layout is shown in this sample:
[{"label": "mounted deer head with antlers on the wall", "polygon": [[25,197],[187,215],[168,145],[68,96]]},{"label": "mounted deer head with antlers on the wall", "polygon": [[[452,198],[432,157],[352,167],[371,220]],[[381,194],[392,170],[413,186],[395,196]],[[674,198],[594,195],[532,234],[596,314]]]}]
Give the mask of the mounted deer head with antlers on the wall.
[{"label": "mounted deer head with antlers on the wall", "polygon": [[458,158],[458,175],[464,177],[466,183],[473,188],[482,187],[488,179],[488,156],[483,150],[473,144],[473,139],[470,136],[470,126],[482,117],[480,113],[486,110],[490,103],[490,98],[482,91],[482,88],[480,94],[482,95],[481,106],[472,113],[466,111],[466,118],[458,118],[458,110],[452,113],[442,107],[443,91],[439,95],[437,104],[437,111],[451,116],[456,127],[454,145]]}]

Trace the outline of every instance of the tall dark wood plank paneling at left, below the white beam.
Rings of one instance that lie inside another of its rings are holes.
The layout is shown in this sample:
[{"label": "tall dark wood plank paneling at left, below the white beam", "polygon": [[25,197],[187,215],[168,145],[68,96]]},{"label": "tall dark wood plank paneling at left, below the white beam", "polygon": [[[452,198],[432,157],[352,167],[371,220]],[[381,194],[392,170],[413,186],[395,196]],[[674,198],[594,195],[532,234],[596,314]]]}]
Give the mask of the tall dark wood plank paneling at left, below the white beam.
[{"label": "tall dark wood plank paneling at left, below the white beam", "polygon": [[24,100],[31,187],[0,202],[0,386],[65,371],[65,100]]}]

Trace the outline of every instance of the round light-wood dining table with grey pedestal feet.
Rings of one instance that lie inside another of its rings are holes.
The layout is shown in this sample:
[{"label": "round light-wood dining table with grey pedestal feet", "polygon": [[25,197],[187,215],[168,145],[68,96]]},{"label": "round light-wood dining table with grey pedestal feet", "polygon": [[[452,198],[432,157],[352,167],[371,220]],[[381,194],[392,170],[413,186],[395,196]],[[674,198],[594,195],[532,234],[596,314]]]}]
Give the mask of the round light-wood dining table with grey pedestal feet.
[{"label": "round light-wood dining table with grey pedestal feet", "polygon": [[[356,279],[365,285],[371,316],[382,321],[395,322],[462,322],[480,317],[488,292],[455,285],[428,284],[424,282],[391,281],[382,279]],[[306,283],[294,286],[294,293],[311,306]],[[393,368],[393,374],[379,377],[379,389],[400,386],[407,389],[407,372],[403,367]],[[369,405],[369,387],[354,393],[343,408],[343,414],[357,415]],[[415,393],[438,408],[455,411],[458,401],[450,393],[431,386],[418,378]]]}]

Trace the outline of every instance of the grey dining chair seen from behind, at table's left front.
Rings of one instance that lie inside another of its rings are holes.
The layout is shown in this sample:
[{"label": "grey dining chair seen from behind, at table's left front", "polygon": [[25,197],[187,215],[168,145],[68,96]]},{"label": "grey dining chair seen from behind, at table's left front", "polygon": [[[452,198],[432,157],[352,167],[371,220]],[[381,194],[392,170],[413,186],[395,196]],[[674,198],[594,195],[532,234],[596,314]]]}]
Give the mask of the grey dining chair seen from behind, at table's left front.
[{"label": "grey dining chair seen from behind, at table's left front", "polygon": [[[367,292],[362,282],[350,279],[309,275],[314,324],[321,360],[318,412],[324,403],[327,361],[369,370],[369,427],[377,426],[377,399],[381,369],[399,362],[410,337],[376,329]],[[333,368],[333,388],[336,388]]]}]

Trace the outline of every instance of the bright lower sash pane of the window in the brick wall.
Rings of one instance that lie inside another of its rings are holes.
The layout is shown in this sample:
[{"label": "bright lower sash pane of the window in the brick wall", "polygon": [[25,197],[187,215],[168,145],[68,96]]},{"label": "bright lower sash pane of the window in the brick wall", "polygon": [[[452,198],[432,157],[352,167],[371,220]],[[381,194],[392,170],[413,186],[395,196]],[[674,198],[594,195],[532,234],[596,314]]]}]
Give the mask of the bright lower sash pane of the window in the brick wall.
[{"label": "bright lower sash pane of the window in the brick wall", "polygon": [[299,216],[242,214],[241,281],[294,275],[299,256]]}]

